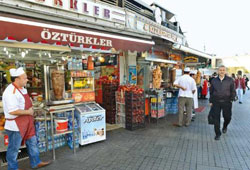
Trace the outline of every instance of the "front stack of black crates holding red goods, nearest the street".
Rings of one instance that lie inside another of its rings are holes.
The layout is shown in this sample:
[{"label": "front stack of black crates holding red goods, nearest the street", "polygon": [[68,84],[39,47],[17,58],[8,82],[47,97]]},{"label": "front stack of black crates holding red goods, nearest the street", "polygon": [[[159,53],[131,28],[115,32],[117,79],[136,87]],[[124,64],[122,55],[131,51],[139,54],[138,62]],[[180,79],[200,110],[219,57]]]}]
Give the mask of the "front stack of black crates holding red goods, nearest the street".
[{"label": "front stack of black crates holding red goods, nearest the street", "polygon": [[136,130],[145,127],[144,93],[125,93],[126,129]]}]

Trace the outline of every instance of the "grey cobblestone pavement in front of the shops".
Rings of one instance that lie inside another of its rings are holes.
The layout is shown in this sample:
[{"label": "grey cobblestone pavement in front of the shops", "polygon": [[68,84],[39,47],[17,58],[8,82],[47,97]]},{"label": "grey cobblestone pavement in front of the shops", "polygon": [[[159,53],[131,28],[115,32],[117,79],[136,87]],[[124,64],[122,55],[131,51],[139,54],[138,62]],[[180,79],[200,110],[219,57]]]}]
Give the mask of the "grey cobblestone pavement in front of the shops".
[{"label": "grey cobblestone pavement in front of the shops", "polygon": [[[67,147],[56,151],[57,160],[44,170],[247,170],[250,169],[250,92],[244,102],[233,106],[227,134],[214,140],[207,124],[208,107],[198,113],[189,127],[173,127],[169,115],[145,129],[119,129],[107,133],[107,140],[80,147],[75,155]],[[200,105],[208,106],[207,100]],[[51,158],[51,153],[42,156]],[[20,162],[27,169],[29,162]],[[6,169],[3,168],[4,170]]]}]

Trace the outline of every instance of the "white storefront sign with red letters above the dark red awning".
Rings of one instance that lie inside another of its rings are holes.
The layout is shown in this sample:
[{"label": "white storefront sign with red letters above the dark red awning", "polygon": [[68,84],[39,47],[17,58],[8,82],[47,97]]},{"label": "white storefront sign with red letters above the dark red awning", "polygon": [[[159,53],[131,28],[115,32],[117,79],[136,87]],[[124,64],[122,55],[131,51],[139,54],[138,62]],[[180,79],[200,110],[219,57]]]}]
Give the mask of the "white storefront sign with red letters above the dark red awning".
[{"label": "white storefront sign with red letters above the dark red awning", "polygon": [[41,5],[73,11],[88,16],[119,22],[125,25],[125,12],[120,8],[91,0],[25,0]]}]

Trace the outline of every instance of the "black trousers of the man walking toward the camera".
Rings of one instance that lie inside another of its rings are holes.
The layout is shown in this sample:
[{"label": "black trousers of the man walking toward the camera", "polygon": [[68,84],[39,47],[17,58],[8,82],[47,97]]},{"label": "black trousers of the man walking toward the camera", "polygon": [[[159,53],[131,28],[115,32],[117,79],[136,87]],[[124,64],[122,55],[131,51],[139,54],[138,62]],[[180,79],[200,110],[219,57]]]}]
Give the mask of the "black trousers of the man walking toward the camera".
[{"label": "black trousers of the man walking toward the camera", "polygon": [[213,113],[214,113],[214,131],[216,136],[221,135],[220,130],[220,116],[221,111],[224,118],[223,128],[227,128],[228,124],[231,121],[232,117],[232,102],[214,102],[213,103]]}]

